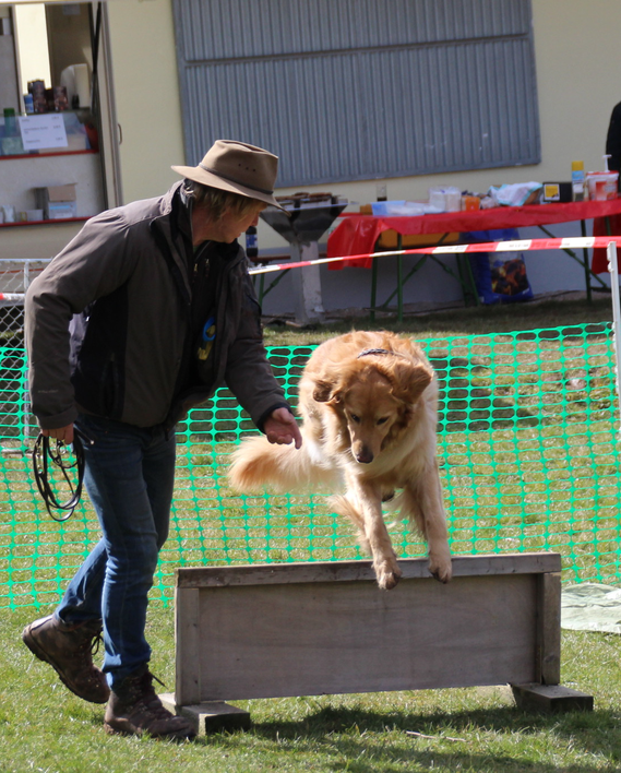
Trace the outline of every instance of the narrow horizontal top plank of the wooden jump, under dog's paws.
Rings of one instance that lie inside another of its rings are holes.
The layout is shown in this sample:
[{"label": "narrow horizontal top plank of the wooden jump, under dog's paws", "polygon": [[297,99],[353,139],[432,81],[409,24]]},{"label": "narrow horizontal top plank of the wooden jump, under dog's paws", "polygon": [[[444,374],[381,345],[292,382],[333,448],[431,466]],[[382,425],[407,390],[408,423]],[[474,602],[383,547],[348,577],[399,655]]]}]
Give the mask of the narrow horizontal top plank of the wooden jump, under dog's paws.
[{"label": "narrow horizontal top plank of the wooden jump, under dog's paws", "polygon": [[[399,560],[404,579],[430,576],[427,558]],[[183,567],[176,569],[177,587],[224,587],[256,583],[375,582],[370,561],[268,563],[232,567]],[[454,556],[453,576],[541,574],[560,572],[561,557],[553,552]]]}]

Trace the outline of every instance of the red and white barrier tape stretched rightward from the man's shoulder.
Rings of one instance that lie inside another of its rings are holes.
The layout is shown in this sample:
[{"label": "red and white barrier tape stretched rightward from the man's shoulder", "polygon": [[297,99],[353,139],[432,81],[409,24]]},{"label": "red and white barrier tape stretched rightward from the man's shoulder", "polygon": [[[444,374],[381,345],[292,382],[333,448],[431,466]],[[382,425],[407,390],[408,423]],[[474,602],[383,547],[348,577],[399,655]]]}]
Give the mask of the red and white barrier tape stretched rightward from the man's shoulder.
[{"label": "red and white barrier tape stretched rightward from the man's shoulder", "polygon": [[411,254],[453,254],[456,252],[526,252],[527,250],[571,250],[588,249],[589,247],[607,248],[610,242],[621,245],[621,236],[576,236],[564,239],[516,239],[514,241],[486,241],[476,245],[441,245],[440,247],[417,247],[410,250],[391,250],[390,252],[363,252],[359,255],[341,255],[339,258],[319,258],[296,263],[271,263],[250,269],[249,273],[268,274],[285,269],[301,269],[304,265],[321,263],[348,262],[368,260],[369,258],[389,258],[391,255]]}]

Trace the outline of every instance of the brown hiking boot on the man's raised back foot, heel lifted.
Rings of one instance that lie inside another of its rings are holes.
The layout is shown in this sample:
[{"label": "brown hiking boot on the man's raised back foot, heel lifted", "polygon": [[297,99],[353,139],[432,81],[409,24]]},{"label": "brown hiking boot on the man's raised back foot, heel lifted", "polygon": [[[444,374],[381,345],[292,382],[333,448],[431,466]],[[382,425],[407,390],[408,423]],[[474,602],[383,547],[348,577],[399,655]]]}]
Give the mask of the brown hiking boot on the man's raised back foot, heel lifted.
[{"label": "brown hiking boot on the man's raised back foot, heel lifted", "polygon": [[104,673],[93,664],[100,634],[100,620],[67,623],[48,615],[26,626],[22,639],[39,661],[49,663],[71,692],[91,703],[105,703],[110,688]]}]

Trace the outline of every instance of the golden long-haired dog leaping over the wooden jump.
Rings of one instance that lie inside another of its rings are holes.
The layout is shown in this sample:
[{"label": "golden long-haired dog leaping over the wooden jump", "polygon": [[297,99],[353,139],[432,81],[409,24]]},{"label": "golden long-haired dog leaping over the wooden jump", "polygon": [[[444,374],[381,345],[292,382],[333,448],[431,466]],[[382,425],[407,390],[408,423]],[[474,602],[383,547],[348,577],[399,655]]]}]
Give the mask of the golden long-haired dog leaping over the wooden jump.
[{"label": "golden long-haired dog leaping over the wooden jump", "polygon": [[[381,588],[401,576],[382,502],[401,510],[427,540],[429,570],[451,579],[446,515],[437,461],[438,381],[409,338],[353,332],[312,354],[299,385],[302,448],[247,438],[229,469],[234,488],[341,489],[335,512],[349,518],[373,559]],[[398,491],[398,493],[395,492]]]}]

